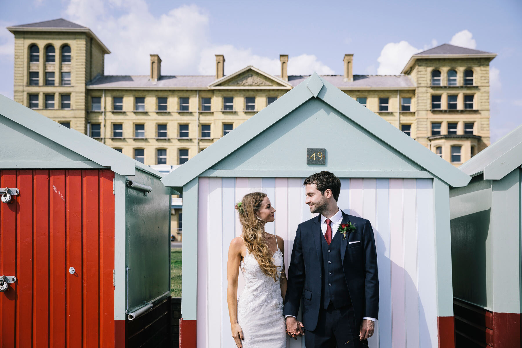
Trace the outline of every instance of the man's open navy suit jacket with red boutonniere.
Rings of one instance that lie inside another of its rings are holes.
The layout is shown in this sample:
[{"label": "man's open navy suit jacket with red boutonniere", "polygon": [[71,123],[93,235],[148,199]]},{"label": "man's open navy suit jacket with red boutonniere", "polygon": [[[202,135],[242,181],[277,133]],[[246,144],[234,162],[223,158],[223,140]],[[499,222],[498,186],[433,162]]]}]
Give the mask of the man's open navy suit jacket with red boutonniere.
[{"label": "man's open navy suit jacket with red boutonniere", "polygon": [[[342,222],[351,222],[355,231],[341,239],[341,262],[348,285],[355,322],[363,317],[377,318],[379,281],[377,253],[370,221],[342,212]],[[336,232],[340,233],[340,232]],[[306,330],[317,326],[321,301],[323,259],[321,249],[321,216],[300,223],[288,268],[288,289],[284,298],[283,315],[297,317],[303,295],[303,324]],[[354,242],[354,243],[350,243]]]}]

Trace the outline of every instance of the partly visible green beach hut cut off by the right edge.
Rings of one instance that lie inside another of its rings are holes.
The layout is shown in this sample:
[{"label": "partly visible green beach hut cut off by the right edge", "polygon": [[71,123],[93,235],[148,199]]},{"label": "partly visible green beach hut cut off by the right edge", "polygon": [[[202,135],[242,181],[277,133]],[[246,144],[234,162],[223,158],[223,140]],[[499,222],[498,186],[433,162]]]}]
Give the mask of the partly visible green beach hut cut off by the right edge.
[{"label": "partly visible green beach hut cut off by the right edge", "polygon": [[452,188],[453,296],[457,346],[519,348],[522,126],[459,169]]}]

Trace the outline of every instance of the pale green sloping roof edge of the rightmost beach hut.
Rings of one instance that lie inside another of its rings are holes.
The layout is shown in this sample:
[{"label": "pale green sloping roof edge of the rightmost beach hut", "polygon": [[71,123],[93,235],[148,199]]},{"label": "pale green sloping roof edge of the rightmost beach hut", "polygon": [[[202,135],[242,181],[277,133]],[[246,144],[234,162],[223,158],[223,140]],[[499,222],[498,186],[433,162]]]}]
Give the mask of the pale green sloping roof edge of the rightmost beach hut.
[{"label": "pale green sloping roof edge of the rightmost beach hut", "polygon": [[484,173],[485,180],[500,180],[522,165],[522,125],[459,166],[469,176]]}]

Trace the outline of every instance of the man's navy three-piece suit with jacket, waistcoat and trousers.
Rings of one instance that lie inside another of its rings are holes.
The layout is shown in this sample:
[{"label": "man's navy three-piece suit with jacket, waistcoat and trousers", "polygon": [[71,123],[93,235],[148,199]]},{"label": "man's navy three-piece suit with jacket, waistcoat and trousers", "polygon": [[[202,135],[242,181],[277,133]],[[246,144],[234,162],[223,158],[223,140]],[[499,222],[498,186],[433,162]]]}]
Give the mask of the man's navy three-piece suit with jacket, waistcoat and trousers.
[{"label": "man's navy three-piece suit with jacket, waistcoat and trousers", "polygon": [[[333,318],[349,321],[345,323],[345,327],[349,332],[348,335],[351,335],[350,338],[358,336],[363,317],[377,318],[379,284],[372,226],[366,219],[342,212],[341,223],[348,222],[355,226],[355,231],[349,235],[347,233],[346,239],[343,239],[342,233],[336,232],[330,246],[323,241],[320,215],[300,223],[295,232],[283,315],[297,317],[301,295],[303,295],[303,325],[306,335],[324,332],[325,326],[332,325],[331,322],[324,321],[337,320],[325,319],[324,312],[328,302],[335,304],[336,310],[339,309],[337,307],[343,306],[344,314],[337,313]],[[332,262],[340,262],[342,267],[338,264],[332,265]],[[330,270],[328,267],[339,270],[343,274],[339,276],[337,272],[334,277],[334,272],[328,272]],[[343,294],[346,298],[341,298],[340,301],[339,297]],[[325,296],[331,297],[333,301],[324,301]],[[318,319],[319,317],[323,320]],[[335,325],[344,328],[342,323],[335,322]],[[309,338],[306,335],[308,345]],[[315,343],[313,345],[329,346]]]}]

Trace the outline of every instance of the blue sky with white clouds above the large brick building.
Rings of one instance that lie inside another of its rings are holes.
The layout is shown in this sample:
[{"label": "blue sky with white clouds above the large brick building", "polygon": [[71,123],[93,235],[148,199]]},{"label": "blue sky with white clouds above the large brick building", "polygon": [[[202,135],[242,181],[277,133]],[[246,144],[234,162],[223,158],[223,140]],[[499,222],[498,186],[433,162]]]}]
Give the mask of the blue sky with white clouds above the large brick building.
[{"label": "blue sky with white clouds above the large brick building", "polygon": [[[146,75],[149,54],[164,75],[225,73],[254,65],[279,74],[398,74],[411,54],[442,43],[497,53],[491,62],[491,138],[522,124],[522,2],[0,0],[0,26],[63,17],[91,30],[112,53],[105,74]],[[453,41],[452,41],[453,40]],[[13,97],[13,35],[0,29],[0,93]]]}]

